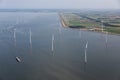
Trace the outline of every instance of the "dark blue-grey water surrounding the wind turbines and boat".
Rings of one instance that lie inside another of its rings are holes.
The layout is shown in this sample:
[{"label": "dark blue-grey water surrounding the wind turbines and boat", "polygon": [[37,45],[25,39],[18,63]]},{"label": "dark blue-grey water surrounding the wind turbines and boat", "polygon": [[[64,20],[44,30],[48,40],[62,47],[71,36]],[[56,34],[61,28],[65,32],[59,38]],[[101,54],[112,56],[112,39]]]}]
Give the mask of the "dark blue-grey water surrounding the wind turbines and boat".
[{"label": "dark blue-grey water surrounding the wind turbines and boat", "polygon": [[120,80],[120,36],[107,39],[63,28],[57,13],[1,12],[0,80]]}]

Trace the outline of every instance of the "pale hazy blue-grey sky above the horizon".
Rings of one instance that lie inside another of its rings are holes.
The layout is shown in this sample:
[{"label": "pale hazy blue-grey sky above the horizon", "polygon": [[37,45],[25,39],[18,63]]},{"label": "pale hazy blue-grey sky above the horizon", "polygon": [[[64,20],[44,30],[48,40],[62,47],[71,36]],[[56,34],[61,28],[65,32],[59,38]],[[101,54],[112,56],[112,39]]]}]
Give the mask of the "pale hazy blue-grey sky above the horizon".
[{"label": "pale hazy blue-grey sky above the horizon", "polygon": [[120,0],[0,0],[0,9],[120,9]]}]

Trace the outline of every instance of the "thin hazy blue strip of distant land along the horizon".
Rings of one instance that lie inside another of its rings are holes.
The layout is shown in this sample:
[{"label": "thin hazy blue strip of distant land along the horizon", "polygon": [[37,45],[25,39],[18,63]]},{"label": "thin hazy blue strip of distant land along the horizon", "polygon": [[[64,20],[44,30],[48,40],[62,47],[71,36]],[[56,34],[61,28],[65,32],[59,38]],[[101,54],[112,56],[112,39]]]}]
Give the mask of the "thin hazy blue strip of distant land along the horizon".
[{"label": "thin hazy blue strip of distant land along the horizon", "polygon": [[120,12],[120,9],[0,9],[0,12],[87,12],[87,11],[112,11]]}]

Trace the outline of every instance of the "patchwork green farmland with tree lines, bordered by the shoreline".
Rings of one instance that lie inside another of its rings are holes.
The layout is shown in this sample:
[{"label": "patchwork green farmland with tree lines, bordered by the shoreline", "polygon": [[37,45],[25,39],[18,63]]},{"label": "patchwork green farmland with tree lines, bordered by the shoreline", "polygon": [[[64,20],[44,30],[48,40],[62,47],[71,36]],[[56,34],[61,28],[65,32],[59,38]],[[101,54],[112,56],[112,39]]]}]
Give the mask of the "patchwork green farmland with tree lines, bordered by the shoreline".
[{"label": "patchwork green farmland with tree lines, bordered by the shoreline", "polygon": [[87,29],[92,31],[107,31],[109,33],[120,34],[120,15],[118,12],[89,12],[62,13],[63,22],[69,28]]}]

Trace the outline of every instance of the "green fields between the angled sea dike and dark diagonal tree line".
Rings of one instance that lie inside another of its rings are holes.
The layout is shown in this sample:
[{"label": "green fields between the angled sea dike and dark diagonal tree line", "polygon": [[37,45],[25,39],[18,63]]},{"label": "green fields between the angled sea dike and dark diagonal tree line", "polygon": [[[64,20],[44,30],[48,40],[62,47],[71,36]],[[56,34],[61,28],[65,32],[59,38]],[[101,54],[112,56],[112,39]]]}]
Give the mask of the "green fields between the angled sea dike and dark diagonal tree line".
[{"label": "green fields between the angled sea dike and dark diagonal tree line", "polygon": [[100,23],[90,21],[86,18],[75,14],[64,14],[63,16],[64,22],[68,26],[72,26],[73,28],[88,28],[88,27],[100,27]]}]

